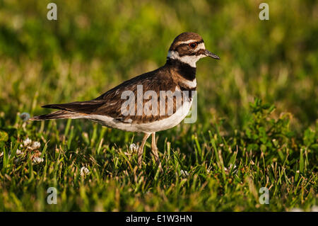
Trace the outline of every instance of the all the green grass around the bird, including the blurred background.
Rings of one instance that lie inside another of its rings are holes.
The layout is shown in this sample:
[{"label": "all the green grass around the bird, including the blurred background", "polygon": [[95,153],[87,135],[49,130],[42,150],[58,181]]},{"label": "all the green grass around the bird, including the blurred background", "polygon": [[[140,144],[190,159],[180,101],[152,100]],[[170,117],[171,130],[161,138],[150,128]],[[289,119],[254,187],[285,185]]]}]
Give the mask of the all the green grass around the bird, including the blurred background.
[{"label": "all the green grass around the bird, including the blurred background", "polygon": [[[259,21],[261,1],[252,0],[56,1],[58,21],[47,21],[48,3],[0,1],[1,211],[318,205],[317,3],[268,1],[270,20]],[[201,34],[221,60],[197,64],[196,123],[158,132],[161,168],[147,143],[138,169],[131,144],[141,135],[20,117],[49,112],[40,108],[46,103],[95,98],[159,67],[185,30]],[[56,205],[47,203],[49,187]],[[269,205],[259,203],[262,187]]]}]

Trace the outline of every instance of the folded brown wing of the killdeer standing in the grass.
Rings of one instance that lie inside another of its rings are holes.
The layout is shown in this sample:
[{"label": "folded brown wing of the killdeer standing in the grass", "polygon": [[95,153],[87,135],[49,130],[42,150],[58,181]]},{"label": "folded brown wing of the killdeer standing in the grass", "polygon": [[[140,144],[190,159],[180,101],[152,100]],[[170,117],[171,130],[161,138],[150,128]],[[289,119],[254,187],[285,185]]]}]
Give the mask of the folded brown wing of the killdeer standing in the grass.
[{"label": "folded brown wing of the killdeer standing in the grass", "polygon": [[[72,111],[76,113],[85,113],[85,114],[94,114],[94,115],[107,115],[112,118],[116,118],[122,122],[127,123],[148,123],[153,122],[155,120],[160,120],[162,118],[166,118],[169,115],[137,115],[137,86],[143,86],[143,94],[152,90],[159,94],[160,91],[171,90],[175,91],[174,79],[168,76],[170,74],[167,72],[167,69],[159,68],[153,72],[148,72],[146,74],[141,74],[138,77],[134,77],[128,81],[124,81],[122,84],[110,89],[105,94],[102,94],[98,98],[93,99],[92,101],[76,101],[72,103],[61,103],[61,104],[50,104],[47,106],[43,106],[44,108],[55,108],[64,111]],[[135,115],[122,115],[122,104],[126,101],[126,99],[121,98],[122,93],[124,91],[132,91],[135,96]],[[159,101],[158,95],[158,101]],[[143,104],[148,102],[148,100],[143,99]],[[158,102],[159,103],[159,102]],[[158,104],[158,112],[159,111]],[[176,111],[176,103],[173,101],[173,112]],[[166,103],[166,111],[167,111],[167,103]]]}]

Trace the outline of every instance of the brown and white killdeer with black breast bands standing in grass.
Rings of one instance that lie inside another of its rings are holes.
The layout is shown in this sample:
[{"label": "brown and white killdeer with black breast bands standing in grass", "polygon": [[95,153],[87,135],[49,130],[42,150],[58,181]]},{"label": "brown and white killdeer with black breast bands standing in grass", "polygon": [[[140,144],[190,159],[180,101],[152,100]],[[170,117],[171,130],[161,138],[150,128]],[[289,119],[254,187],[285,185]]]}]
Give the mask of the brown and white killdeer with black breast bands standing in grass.
[{"label": "brown and white killdeer with black breast bands standing in grass", "polygon": [[[42,106],[59,111],[35,116],[30,120],[86,118],[110,128],[143,132],[143,140],[138,149],[138,164],[141,165],[143,147],[150,135],[152,154],[158,162],[155,132],[174,127],[188,114],[192,106],[192,93],[196,91],[196,62],[203,57],[220,59],[206,50],[200,35],[182,33],[170,46],[163,67],[124,81],[91,101]],[[174,95],[160,95],[168,91]],[[127,102],[127,96],[132,101]],[[169,108],[172,110],[169,111]]]}]

